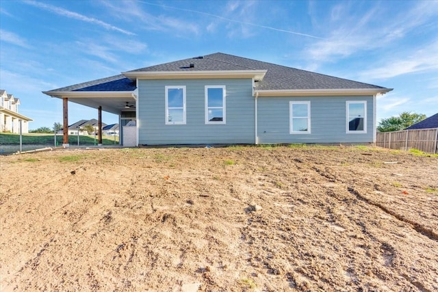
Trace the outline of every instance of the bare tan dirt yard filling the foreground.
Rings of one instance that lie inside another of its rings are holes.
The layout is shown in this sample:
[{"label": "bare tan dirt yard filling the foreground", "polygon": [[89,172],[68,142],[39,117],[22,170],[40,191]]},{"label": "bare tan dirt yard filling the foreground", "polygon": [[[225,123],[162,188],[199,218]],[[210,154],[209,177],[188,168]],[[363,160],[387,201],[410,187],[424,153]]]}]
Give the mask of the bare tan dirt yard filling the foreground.
[{"label": "bare tan dirt yard filling the foreground", "polygon": [[0,291],[438,291],[438,157],[364,147],[3,156]]}]

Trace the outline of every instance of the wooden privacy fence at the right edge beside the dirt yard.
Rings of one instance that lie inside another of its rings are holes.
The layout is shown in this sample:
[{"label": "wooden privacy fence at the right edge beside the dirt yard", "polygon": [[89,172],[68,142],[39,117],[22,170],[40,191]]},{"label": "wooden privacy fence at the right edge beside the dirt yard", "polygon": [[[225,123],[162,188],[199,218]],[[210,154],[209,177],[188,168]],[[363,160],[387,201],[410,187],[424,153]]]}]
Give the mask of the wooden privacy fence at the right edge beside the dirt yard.
[{"label": "wooden privacy fence at the right edge beside the dirt yard", "polygon": [[435,154],[438,150],[438,128],[377,133],[376,145],[398,150],[415,148]]}]

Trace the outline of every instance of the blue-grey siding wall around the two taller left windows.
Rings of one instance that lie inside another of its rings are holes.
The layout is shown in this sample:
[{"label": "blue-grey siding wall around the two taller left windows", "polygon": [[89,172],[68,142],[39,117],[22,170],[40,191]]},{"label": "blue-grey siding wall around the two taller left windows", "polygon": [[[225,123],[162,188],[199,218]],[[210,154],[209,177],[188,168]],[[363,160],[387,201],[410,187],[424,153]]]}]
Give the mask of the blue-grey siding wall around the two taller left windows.
[{"label": "blue-grey siding wall around the two taller left windows", "polygon": [[[165,86],[186,86],[186,124],[166,124]],[[205,85],[226,86],[227,124],[205,124]],[[251,79],[138,81],[139,144],[254,144]]]}]

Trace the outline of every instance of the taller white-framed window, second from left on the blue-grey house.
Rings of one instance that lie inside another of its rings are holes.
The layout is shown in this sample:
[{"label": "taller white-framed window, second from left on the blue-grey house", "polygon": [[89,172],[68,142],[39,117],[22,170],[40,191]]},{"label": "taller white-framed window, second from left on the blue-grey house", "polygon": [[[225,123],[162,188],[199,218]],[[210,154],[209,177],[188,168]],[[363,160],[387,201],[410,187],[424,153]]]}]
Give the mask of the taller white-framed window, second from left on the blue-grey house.
[{"label": "taller white-framed window, second from left on the blue-grey house", "polygon": [[225,124],[225,86],[205,86],[205,124]]}]

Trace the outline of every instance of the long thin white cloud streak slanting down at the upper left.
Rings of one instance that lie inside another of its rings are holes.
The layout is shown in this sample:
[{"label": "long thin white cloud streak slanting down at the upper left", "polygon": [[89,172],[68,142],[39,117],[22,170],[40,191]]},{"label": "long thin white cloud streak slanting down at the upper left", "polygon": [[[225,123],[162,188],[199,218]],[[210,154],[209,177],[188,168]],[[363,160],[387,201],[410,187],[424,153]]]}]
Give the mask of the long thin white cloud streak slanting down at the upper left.
[{"label": "long thin white cloud streak slanting down at the upper left", "polygon": [[104,21],[100,21],[99,19],[88,17],[85,15],[79,14],[77,12],[66,10],[64,8],[59,8],[57,6],[53,6],[53,5],[49,5],[49,4],[45,4],[45,3],[37,2],[37,1],[24,1],[24,3],[36,6],[38,8],[42,8],[44,10],[53,12],[53,13],[61,15],[61,16],[66,16],[68,18],[77,19],[78,21],[83,21],[86,23],[92,23],[95,25],[99,25],[100,27],[103,27],[103,28],[108,29],[108,30],[118,31],[118,32],[121,32],[122,34],[127,34],[129,36],[136,35],[136,34],[133,34],[131,31],[121,29],[121,28],[116,27],[114,25],[110,25],[109,23],[105,23]]}]

